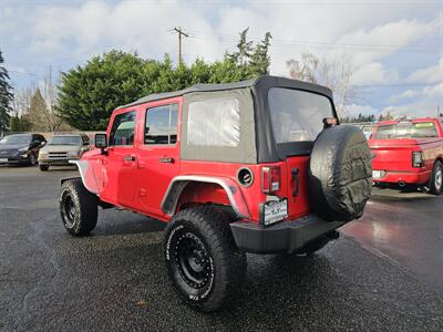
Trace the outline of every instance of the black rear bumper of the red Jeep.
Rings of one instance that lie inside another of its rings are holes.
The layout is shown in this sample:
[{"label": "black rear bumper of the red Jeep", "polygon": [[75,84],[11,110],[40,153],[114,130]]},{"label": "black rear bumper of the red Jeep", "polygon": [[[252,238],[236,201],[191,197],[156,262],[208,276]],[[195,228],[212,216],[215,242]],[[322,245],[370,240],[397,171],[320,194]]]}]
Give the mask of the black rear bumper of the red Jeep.
[{"label": "black rear bumper of the red Jeep", "polygon": [[276,253],[293,252],[344,224],[324,221],[310,215],[266,228],[253,221],[237,221],[230,224],[230,229],[239,249],[253,253]]}]

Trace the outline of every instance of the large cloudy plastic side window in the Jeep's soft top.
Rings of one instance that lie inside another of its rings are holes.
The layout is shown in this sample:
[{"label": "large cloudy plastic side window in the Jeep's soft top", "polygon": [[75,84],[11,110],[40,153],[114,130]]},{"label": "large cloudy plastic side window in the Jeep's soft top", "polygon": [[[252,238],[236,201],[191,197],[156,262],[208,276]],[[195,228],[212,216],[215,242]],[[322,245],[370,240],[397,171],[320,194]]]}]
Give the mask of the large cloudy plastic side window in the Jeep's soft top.
[{"label": "large cloudy plastic side window in the Jeep's soft top", "polygon": [[240,108],[235,97],[189,104],[187,145],[236,147],[240,143]]}]

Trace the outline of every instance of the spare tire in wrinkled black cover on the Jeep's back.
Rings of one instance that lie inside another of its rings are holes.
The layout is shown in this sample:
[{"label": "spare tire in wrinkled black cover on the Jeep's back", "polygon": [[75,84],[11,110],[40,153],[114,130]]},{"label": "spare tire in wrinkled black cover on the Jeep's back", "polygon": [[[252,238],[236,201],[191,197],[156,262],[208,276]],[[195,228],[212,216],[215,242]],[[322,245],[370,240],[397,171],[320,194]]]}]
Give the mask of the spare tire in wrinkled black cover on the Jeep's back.
[{"label": "spare tire in wrinkled black cover on the Jeep's back", "polygon": [[372,189],[372,157],[363,133],[351,125],[324,128],[309,165],[312,208],[328,221],[363,215]]}]

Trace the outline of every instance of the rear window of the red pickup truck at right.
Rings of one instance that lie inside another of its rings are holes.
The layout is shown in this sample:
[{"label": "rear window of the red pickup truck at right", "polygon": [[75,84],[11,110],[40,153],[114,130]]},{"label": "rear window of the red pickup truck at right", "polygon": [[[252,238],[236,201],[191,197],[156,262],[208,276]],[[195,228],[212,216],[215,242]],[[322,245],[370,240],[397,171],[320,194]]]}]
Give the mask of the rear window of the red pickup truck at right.
[{"label": "rear window of the red pickup truck at right", "polygon": [[433,122],[406,122],[390,125],[380,125],[377,128],[375,139],[390,138],[424,138],[437,137]]}]

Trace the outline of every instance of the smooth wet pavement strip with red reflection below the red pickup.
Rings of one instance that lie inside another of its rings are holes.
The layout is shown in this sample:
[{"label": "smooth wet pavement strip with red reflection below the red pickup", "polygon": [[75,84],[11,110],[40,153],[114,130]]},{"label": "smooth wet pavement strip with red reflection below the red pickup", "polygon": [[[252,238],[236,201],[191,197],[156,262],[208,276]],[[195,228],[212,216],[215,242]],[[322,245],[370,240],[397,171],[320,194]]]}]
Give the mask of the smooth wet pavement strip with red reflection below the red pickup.
[{"label": "smooth wet pavement strip with red reflection below the red pickup", "polygon": [[342,231],[443,293],[443,196],[374,188],[364,217]]}]

